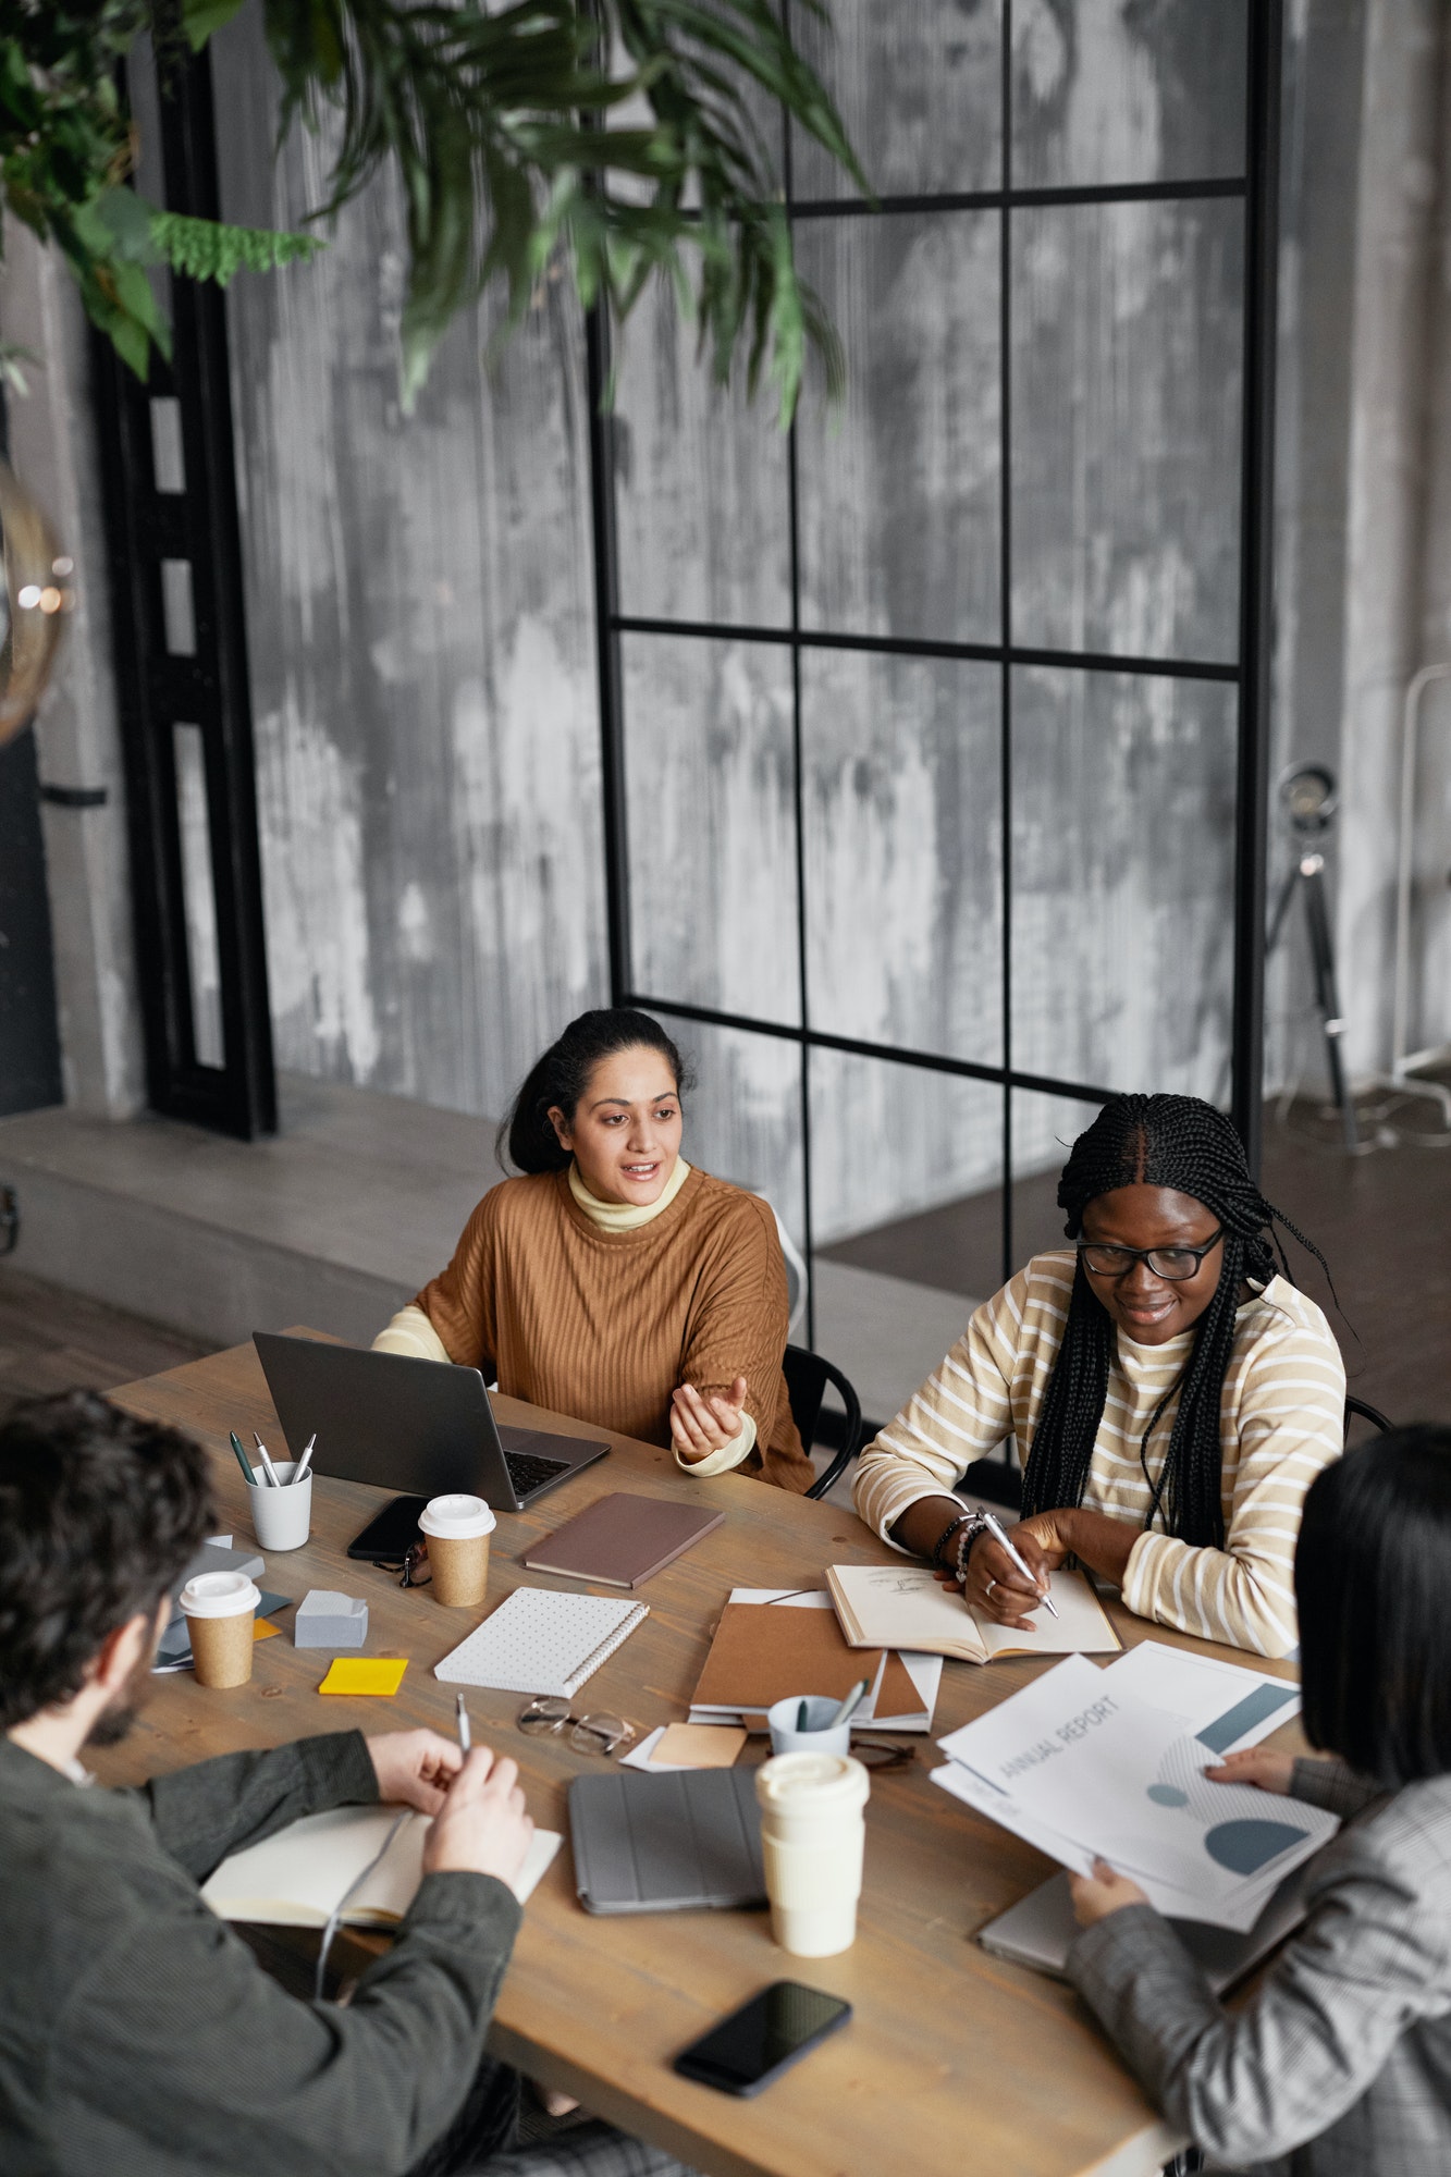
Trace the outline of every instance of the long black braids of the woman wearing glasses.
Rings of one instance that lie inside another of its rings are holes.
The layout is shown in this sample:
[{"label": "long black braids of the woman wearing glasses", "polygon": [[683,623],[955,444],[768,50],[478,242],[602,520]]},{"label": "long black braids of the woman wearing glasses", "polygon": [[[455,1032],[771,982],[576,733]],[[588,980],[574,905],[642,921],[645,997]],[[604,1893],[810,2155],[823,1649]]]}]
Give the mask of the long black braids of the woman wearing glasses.
[{"label": "long black braids of the woman wearing glasses", "polygon": [[[1220,1282],[1196,1324],[1194,1352],[1179,1382],[1155,1409],[1139,1443],[1148,1478],[1148,1439],[1179,1389],[1179,1413],[1159,1480],[1150,1480],[1144,1526],[1153,1526],[1159,1517],[1168,1535],[1220,1548],[1224,1541],[1220,1395],[1235,1337],[1240,1289],[1246,1278],[1268,1284],[1277,1269],[1290,1278],[1277,1223],[1316,1256],[1327,1278],[1329,1267],[1314,1241],[1264,1200],[1233,1123],[1196,1095],[1115,1095],[1105,1104],[1087,1132],[1074,1141],[1059,1180],[1059,1208],[1068,1210],[1063,1228],[1068,1237],[1078,1239],[1089,1202],[1135,1182],[1194,1195],[1224,1228]],[[1113,1317],[1078,1263],[1063,1343],[1044,1391],[1022,1480],[1024,1513],[1083,1502],[1111,1356]]]}]

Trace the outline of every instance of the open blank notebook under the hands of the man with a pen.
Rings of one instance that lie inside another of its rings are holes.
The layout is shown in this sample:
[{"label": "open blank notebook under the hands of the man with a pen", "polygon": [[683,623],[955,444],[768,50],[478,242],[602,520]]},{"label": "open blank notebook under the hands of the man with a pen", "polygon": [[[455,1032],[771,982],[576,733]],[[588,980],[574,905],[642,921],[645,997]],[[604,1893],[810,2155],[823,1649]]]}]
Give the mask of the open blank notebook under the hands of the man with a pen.
[{"label": "open blank notebook under the hands of the man with a pen", "polygon": [[[397,1807],[331,1807],[290,1822],[275,1837],[233,1853],[203,1883],[203,1901],[220,1920],[257,1920],[268,1927],[327,1927],[340,1898],[381,1850],[399,1820]],[[397,1927],[423,1881],[427,1813],[407,1813],[397,1837],[355,1898],[346,1927]],[[558,1829],[536,1829],[514,1881],[523,1905],[560,1848]]]}]

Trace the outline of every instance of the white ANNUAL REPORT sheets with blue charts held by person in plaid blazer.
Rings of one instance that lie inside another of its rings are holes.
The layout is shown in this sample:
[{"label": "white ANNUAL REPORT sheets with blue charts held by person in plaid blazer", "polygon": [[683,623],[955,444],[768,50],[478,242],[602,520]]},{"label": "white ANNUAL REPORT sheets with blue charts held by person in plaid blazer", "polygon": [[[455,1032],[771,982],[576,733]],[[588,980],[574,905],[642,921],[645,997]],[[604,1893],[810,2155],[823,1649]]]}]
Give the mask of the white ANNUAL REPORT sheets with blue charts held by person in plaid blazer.
[{"label": "white ANNUAL REPORT sheets with blue charts held by person in plaid blazer", "polygon": [[[1124,1657],[1129,1663],[1129,1657]],[[939,1739],[932,1783],[1081,1874],[1102,1857],[1159,1911],[1248,1929],[1277,1887],[1340,1827],[1253,1785],[1209,1783],[1185,1715],[1133,1692],[1161,1665],[1094,1670],[1070,1657],[976,1724]]]}]

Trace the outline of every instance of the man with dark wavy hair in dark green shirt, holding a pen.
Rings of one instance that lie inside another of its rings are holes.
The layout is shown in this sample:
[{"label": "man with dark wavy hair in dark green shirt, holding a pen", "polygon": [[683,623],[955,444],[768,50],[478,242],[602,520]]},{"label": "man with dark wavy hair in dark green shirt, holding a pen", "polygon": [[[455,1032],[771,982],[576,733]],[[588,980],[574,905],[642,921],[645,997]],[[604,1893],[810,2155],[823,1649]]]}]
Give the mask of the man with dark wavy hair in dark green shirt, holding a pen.
[{"label": "man with dark wavy hair in dark green shirt, holding a pen", "polygon": [[[205,1465],[94,1393],[0,1426],[0,2170],[688,2177],[597,2123],[510,2151],[519,2081],[484,2038],[534,1827],[512,1761],[340,1731],[94,1785],[81,1752],[135,1718],[211,1526]],[[346,2009],[301,2003],[198,1883],[298,1816],[379,1798],[434,1816],[423,1885]]]}]

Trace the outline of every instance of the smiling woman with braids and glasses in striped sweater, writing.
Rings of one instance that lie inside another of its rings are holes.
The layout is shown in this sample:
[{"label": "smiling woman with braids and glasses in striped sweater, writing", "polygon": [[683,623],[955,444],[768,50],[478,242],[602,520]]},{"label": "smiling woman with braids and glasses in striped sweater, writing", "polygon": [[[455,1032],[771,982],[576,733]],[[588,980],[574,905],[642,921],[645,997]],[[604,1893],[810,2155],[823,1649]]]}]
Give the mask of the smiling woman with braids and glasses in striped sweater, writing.
[{"label": "smiling woman with braids and glasses in striped sweater, writing", "polygon": [[[1294,1289],[1224,1112],[1115,1095],[1059,1180],[1072,1250],[1039,1254],[867,1446],[856,1509],[974,1609],[1031,1631],[1070,1554],[1139,1618],[1288,1655],[1301,1502],[1344,1441],[1344,1363]],[[1312,1247],[1318,1258],[1318,1250]],[[1024,1578],[954,1483],[1009,1439]]]}]

